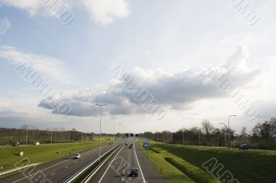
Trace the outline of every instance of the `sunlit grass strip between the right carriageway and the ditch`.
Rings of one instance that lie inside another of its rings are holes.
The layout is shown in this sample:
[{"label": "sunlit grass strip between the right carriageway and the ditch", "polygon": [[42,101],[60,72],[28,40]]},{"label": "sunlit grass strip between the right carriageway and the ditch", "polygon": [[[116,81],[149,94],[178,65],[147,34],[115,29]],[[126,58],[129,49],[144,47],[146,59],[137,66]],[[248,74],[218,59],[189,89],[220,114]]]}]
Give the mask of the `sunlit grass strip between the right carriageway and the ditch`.
[{"label": "sunlit grass strip between the right carriageway and the ditch", "polygon": [[139,147],[141,151],[148,157],[148,160],[155,166],[157,171],[161,174],[162,177],[168,183],[191,183],[194,182],[187,175],[179,171],[175,166],[172,166],[169,162],[165,160],[163,155],[159,153],[155,153],[152,151],[148,151],[148,155],[146,153],[146,149],[143,147],[143,143],[139,142]]}]

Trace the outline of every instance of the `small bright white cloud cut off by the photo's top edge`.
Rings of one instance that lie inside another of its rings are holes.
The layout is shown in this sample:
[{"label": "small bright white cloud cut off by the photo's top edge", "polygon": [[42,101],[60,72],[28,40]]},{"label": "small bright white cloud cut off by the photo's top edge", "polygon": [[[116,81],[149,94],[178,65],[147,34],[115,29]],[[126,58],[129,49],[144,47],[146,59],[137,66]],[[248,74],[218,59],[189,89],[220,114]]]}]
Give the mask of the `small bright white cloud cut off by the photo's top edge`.
[{"label": "small bright white cloud cut off by the photo's top edge", "polygon": [[92,19],[103,25],[112,23],[115,18],[124,18],[129,14],[128,0],[81,0]]}]

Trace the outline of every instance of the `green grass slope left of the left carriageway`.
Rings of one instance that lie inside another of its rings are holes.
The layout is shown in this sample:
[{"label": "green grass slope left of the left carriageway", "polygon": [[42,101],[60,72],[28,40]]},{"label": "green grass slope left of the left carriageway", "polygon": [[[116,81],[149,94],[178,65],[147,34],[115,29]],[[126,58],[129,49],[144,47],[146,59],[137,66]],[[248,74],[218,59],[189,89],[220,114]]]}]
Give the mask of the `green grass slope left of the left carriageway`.
[{"label": "green grass slope left of the left carriageway", "polygon": [[[109,141],[102,140],[102,144]],[[14,164],[28,157],[30,164],[46,163],[58,160],[62,157],[79,153],[86,149],[99,146],[99,138],[92,143],[70,143],[70,144],[43,144],[39,146],[0,146],[0,171],[6,171],[14,168]],[[23,151],[23,156],[19,156],[19,152]],[[59,154],[57,153],[59,152]],[[4,175],[3,175],[4,176]],[[1,177],[3,177],[1,176]]]}]

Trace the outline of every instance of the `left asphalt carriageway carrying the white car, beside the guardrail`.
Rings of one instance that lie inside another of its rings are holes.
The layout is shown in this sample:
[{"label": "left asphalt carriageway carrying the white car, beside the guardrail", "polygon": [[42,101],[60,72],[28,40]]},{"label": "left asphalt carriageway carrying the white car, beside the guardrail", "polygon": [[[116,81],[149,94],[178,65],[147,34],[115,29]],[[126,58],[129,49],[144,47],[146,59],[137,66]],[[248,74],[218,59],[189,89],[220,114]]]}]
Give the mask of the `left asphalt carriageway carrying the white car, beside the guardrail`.
[{"label": "left asphalt carriageway carrying the white car, beside the guardrail", "polygon": [[[115,144],[119,144],[119,142],[115,142]],[[110,146],[109,144],[101,146],[101,154],[110,150],[110,148],[112,148],[112,145]],[[73,160],[72,155],[70,155],[61,158],[60,160],[49,162],[41,166],[36,166],[35,168],[30,168],[27,171],[4,177],[3,179],[0,179],[0,183],[33,183],[41,182],[41,180],[44,180],[43,183],[59,182],[67,175],[70,175],[70,173],[76,171],[77,168],[91,160],[95,160],[97,157],[99,157],[99,147],[83,151],[81,153],[81,158],[77,160]],[[46,181],[46,179],[48,180]]]}]

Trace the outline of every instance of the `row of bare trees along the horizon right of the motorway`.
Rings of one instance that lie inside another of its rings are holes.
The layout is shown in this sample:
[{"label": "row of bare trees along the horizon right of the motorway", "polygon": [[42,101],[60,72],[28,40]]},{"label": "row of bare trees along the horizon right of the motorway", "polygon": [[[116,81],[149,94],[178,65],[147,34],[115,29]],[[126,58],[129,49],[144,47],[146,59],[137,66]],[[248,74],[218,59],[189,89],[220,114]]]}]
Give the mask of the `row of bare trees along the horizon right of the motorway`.
[{"label": "row of bare trees along the horizon right of the motorway", "polygon": [[158,142],[171,144],[228,146],[228,134],[232,147],[248,144],[250,148],[276,149],[276,118],[271,117],[270,121],[257,123],[250,131],[247,131],[245,126],[239,132],[232,128],[228,131],[226,124],[222,124],[221,128],[215,128],[210,121],[204,119],[200,127],[181,128],[176,132],[147,131],[142,135]]}]

